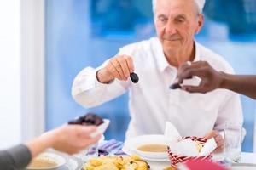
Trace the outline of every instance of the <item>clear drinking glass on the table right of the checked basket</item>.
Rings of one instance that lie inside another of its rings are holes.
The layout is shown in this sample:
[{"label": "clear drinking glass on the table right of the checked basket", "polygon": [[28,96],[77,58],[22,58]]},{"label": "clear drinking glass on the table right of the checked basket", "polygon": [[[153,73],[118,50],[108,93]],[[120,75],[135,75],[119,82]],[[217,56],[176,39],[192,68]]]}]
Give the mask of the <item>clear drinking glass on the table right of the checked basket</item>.
[{"label": "clear drinking glass on the table right of the checked basket", "polygon": [[242,124],[225,122],[224,155],[225,160],[239,162],[241,160]]}]

